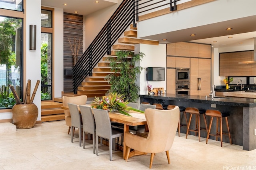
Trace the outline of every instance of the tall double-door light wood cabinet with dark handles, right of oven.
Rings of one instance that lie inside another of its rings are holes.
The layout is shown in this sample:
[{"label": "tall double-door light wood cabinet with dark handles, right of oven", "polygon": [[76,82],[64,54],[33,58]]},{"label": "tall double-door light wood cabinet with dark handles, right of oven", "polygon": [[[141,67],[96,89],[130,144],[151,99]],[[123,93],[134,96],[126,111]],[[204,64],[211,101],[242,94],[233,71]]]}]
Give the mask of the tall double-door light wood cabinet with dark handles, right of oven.
[{"label": "tall double-door light wood cabinet with dark handles, right of oven", "polygon": [[211,91],[211,60],[190,58],[190,95],[205,96]]}]

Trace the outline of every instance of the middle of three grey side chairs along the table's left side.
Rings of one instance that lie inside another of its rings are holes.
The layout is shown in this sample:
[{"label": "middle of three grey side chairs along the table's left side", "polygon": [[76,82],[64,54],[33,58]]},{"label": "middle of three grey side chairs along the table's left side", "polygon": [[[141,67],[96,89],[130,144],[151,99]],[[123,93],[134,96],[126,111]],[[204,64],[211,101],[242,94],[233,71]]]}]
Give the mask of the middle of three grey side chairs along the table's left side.
[{"label": "middle of three grey side chairs along the table's left side", "polygon": [[[95,123],[92,114],[92,107],[90,106],[79,106],[83,122],[83,147],[85,149],[85,132],[92,134],[92,148],[95,153]],[[89,135],[88,135],[89,136]],[[89,139],[89,137],[88,137]]]}]

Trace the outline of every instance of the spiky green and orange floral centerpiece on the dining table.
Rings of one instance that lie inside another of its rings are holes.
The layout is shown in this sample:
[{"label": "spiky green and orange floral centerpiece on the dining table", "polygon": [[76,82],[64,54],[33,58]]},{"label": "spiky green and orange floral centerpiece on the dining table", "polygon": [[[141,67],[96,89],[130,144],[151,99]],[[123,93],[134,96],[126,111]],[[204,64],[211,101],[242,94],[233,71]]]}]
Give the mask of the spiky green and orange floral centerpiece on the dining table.
[{"label": "spiky green and orange floral centerpiece on the dining table", "polygon": [[124,101],[123,94],[111,93],[108,96],[102,96],[102,99],[95,97],[91,104],[92,108],[109,110],[110,112],[119,111],[128,116],[131,116],[127,113],[130,110],[144,113],[144,111],[127,106],[128,103],[128,100]]}]

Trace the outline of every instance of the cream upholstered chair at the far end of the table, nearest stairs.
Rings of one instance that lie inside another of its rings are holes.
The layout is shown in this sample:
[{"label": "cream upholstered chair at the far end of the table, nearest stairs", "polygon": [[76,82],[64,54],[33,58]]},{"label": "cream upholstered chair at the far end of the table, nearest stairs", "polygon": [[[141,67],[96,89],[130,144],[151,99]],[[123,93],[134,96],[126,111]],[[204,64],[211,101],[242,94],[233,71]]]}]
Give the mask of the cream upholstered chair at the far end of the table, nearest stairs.
[{"label": "cream upholstered chair at the far end of the table, nearest stairs", "polygon": [[[76,105],[84,105],[86,104],[87,96],[81,95],[81,96],[74,96],[74,97],[68,97],[68,96],[62,96],[62,103],[64,107],[68,107],[68,103],[76,104]],[[71,116],[69,109],[64,110],[65,113],[65,121],[66,125],[68,126],[68,134],[70,132],[71,127]]]}]

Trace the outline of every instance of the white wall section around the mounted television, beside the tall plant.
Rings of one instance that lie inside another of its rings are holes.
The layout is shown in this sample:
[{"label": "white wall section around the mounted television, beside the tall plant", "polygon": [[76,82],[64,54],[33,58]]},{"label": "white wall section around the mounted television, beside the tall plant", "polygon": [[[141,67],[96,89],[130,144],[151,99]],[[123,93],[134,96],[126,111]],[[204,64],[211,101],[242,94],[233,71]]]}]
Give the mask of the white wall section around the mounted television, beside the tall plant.
[{"label": "white wall section around the mounted television, beside the tall plant", "polygon": [[[138,51],[145,54],[145,57],[140,61],[140,66],[147,67],[165,67],[166,68],[166,45],[135,45],[135,53]],[[165,69],[166,76],[166,69]],[[140,94],[147,94],[147,80],[146,69],[142,70],[139,76]],[[165,81],[148,81],[148,84],[152,85],[152,88],[163,87],[166,90],[166,78]]]}]

